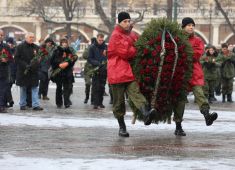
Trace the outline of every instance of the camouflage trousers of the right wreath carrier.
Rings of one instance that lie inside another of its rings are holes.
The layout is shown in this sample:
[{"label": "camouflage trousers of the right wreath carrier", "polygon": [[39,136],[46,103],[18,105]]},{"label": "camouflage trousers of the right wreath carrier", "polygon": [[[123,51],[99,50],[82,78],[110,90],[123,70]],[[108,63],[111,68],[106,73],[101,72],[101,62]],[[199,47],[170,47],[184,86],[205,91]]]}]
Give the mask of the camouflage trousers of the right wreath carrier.
[{"label": "camouflage trousers of the right wreath carrier", "polygon": [[[195,96],[195,101],[199,106],[200,110],[203,109],[210,109],[210,105],[208,103],[208,99],[205,97],[202,86],[194,86],[193,87],[193,94]],[[178,100],[178,102],[173,106],[174,118],[175,122],[182,122],[183,115],[185,110],[185,103],[187,99]]]}]

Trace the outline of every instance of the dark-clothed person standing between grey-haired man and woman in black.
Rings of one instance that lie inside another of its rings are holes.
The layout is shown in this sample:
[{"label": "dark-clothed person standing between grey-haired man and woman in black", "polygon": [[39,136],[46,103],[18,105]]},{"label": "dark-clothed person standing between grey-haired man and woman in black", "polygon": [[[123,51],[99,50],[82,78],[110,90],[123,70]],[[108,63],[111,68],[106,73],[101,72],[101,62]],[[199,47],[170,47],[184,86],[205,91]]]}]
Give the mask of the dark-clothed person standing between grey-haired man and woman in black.
[{"label": "dark-clothed person standing between grey-haired man and woman in black", "polygon": [[44,57],[44,59],[40,62],[40,68],[39,68],[40,84],[39,84],[38,96],[39,96],[39,99],[41,99],[41,96],[42,96],[42,100],[49,100],[47,96],[48,85],[50,81],[48,78],[48,69],[50,68],[50,59],[56,46],[55,46],[55,42],[51,38],[47,38],[43,46],[45,46],[48,52],[48,55]]}]

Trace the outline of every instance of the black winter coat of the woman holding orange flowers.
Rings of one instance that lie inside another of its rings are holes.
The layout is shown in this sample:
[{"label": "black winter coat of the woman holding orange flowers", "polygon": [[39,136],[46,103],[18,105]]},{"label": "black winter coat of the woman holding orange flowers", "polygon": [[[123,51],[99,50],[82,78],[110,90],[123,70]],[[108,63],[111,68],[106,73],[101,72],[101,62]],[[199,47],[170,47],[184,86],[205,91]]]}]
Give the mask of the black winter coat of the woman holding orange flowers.
[{"label": "black winter coat of the woman holding orange flowers", "polygon": [[68,67],[61,70],[57,75],[55,75],[55,77],[51,77],[51,80],[53,82],[72,82],[74,80],[73,66],[78,57],[72,48],[62,48],[61,46],[58,46],[57,49],[55,49],[50,61],[52,69],[59,69],[59,65],[65,61],[65,58],[63,57],[64,54],[66,54],[66,56],[71,55],[73,57],[73,60],[68,61]]}]

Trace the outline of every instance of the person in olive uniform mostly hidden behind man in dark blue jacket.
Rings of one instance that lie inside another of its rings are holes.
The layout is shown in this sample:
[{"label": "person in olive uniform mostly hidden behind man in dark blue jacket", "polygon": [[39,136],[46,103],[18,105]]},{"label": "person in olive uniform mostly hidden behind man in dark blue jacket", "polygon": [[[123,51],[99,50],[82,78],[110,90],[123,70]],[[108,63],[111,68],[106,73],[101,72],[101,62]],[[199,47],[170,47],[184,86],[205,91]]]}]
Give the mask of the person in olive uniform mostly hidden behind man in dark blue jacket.
[{"label": "person in olive uniform mostly hidden behind man in dark blue jacket", "polygon": [[[96,41],[96,38],[91,38],[91,45]],[[90,89],[91,89],[91,79],[92,79],[92,75],[91,75],[91,70],[92,70],[92,65],[87,61],[88,59],[88,51],[89,51],[89,47],[87,47],[85,49],[85,51],[83,52],[82,54],[82,58],[84,60],[86,60],[86,64],[84,66],[84,80],[85,80],[85,100],[84,100],[84,103],[86,104],[89,100],[89,96],[90,96]],[[91,103],[93,103],[92,101],[93,99],[93,96],[91,94]]]}]

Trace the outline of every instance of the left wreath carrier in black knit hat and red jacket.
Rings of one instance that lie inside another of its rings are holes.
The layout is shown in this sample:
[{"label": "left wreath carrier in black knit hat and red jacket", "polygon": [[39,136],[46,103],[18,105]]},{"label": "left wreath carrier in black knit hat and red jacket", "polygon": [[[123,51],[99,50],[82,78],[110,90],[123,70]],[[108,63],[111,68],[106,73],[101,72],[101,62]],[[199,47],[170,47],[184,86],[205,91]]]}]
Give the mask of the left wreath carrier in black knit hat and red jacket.
[{"label": "left wreath carrier in black knit hat and red jacket", "polygon": [[127,12],[118,14],[118,24],[114,28],[108,45],[108,82],[113,92],[113,113],[119,124],[119,136],[129,137],[124,122],[125,97],[127,93],[135,107],[141,111],[145,118],[145,125],[151,124],[156,111],[147,110],[147,101],[140,93],[135,81],[130,62],[136,56],[134,43],[137,35],[131,31],[131,17]]}]

